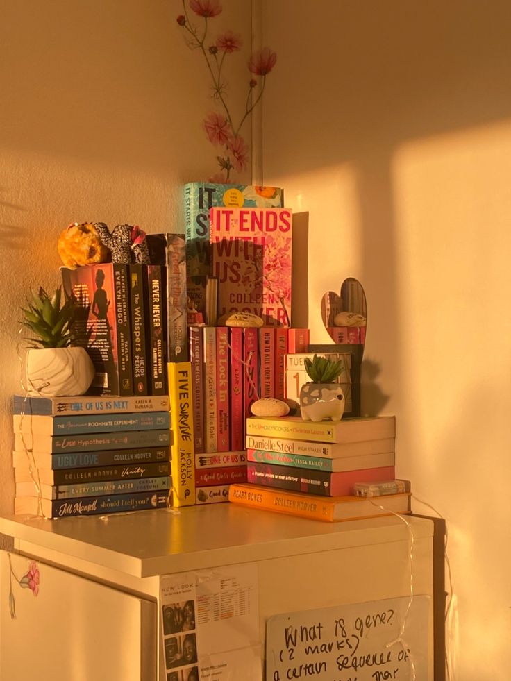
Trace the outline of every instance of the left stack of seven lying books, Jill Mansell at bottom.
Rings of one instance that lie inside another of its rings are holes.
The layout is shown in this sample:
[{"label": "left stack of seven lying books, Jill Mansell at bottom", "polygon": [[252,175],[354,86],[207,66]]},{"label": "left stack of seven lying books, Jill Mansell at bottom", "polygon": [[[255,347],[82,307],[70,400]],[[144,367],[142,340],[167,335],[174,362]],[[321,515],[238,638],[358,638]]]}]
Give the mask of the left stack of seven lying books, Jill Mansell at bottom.
[{"label": "left stack of seven lying books, Jill Mansell at bottom", "polygon": [[167,506],[167,396],[14,396],[12,414],[16,514],[63,518]]}]

